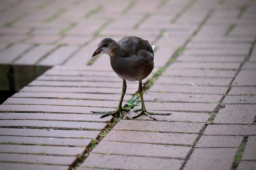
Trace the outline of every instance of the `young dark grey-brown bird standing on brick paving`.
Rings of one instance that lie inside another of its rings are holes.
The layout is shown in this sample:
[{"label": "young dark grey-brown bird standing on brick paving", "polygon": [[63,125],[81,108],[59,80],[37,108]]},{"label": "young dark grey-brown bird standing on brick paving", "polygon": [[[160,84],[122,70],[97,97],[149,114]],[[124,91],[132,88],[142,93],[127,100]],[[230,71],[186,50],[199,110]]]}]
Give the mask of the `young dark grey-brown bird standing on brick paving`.
[{"label": "young dark grey-brown bird standing on brick paving", "polygon": [[110,64],[114,72],[122,78],[123,86],[121,98],[118,103],[116,111],[102,112],[92,111],[92,113],[105,113],[100,118],[112,115],[113,117],[119,115],[122,119],[123,111],[128,112],[129,110],[122,108],[122,102],[126,92],[126,80],[128,81],[139,81],[138,92],[140,94],[142,107],[136,109],[134,112],[141,111],[138,115],[132,117],[135,119],[139,116],[146,115],[147,117],[157,120],[151,115],[169,115],[170,113],[152,113],[146,111],[146,107],[143,100],[142,92],[142,80],[144,80],[152,72],[154,68],[154,52],[153,47],[147,40],[140,37],[124,37],[116,42],[111,38],[104,38],[100,41],[98,48],[92,54],[92,57],[104,53],[110,56]]}]

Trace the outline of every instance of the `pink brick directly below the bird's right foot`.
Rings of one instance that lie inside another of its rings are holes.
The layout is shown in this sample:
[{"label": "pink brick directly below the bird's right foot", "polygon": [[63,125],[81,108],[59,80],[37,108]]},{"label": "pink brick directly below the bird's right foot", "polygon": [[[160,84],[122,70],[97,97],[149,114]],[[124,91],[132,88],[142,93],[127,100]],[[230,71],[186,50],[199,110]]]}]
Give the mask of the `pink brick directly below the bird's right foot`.
[{"label": "pink brick directly below the bird's right foot", "polygon": [[199,133],[204,123],[121,120],[113,130]]}]

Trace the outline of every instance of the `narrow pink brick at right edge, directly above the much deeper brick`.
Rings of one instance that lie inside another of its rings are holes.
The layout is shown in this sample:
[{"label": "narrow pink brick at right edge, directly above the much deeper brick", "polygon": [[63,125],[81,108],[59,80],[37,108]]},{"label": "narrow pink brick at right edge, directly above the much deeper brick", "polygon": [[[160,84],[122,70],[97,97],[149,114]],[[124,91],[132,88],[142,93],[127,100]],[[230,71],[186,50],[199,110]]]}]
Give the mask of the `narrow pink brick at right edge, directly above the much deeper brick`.
[{"label": "narrow pink brick at right edge, directly above the much deeper brick", "polygon": [[256,104],[256,96],[226,96],[223,100],[224,104]]}]

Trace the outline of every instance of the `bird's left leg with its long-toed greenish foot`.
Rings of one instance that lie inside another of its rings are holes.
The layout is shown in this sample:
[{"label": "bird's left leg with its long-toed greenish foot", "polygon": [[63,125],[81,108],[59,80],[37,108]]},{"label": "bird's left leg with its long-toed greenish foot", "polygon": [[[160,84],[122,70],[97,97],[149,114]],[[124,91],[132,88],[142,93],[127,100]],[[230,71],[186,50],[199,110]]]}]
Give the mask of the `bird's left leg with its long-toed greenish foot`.
[{"label": "bird's left leg with its long-toed greenish foot", "polygon": [[106,117],[106,116],[109,116],[109,115],[112,115],[112,116],[115,116],[115,115],[118,115],[120,116],[120,118],[122,119],[122,113],[123,111],[126,111],[128,112],[129,110],[127,109],[123,109],[122,108],[122,102],[124,100],[124,94],[126,92],[126,80],[123,79],[123,88],[122,88],[122,94],[121,94],[121,98],[119,100],[119,103],[118,103],[118,106],[117,106],[117,109],[116,111],[91,111],[92,113],[106,113],[104,115],[102,115],[100,118],[103,118],[103,117]]}]

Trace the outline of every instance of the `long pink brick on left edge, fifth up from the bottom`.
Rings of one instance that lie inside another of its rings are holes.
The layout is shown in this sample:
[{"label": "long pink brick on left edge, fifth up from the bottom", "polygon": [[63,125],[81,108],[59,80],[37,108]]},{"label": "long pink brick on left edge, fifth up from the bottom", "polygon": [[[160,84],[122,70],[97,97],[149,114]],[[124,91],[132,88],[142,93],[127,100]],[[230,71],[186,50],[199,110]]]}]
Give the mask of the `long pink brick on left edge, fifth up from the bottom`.
[{"label": "long pink brick on left edge, fifth up from the bottom", "polygon": [[[39,122],[40,123],[40,122]],[[10,124],[11,125],[11,124]],[[13,136],[37,136],[37,137],[68,137],[68,138],[92,138],[99,135],[100,131],[95,130],[55,130],[55,129],[16,129],[16,128],[0,128],[1,135]]]}]

